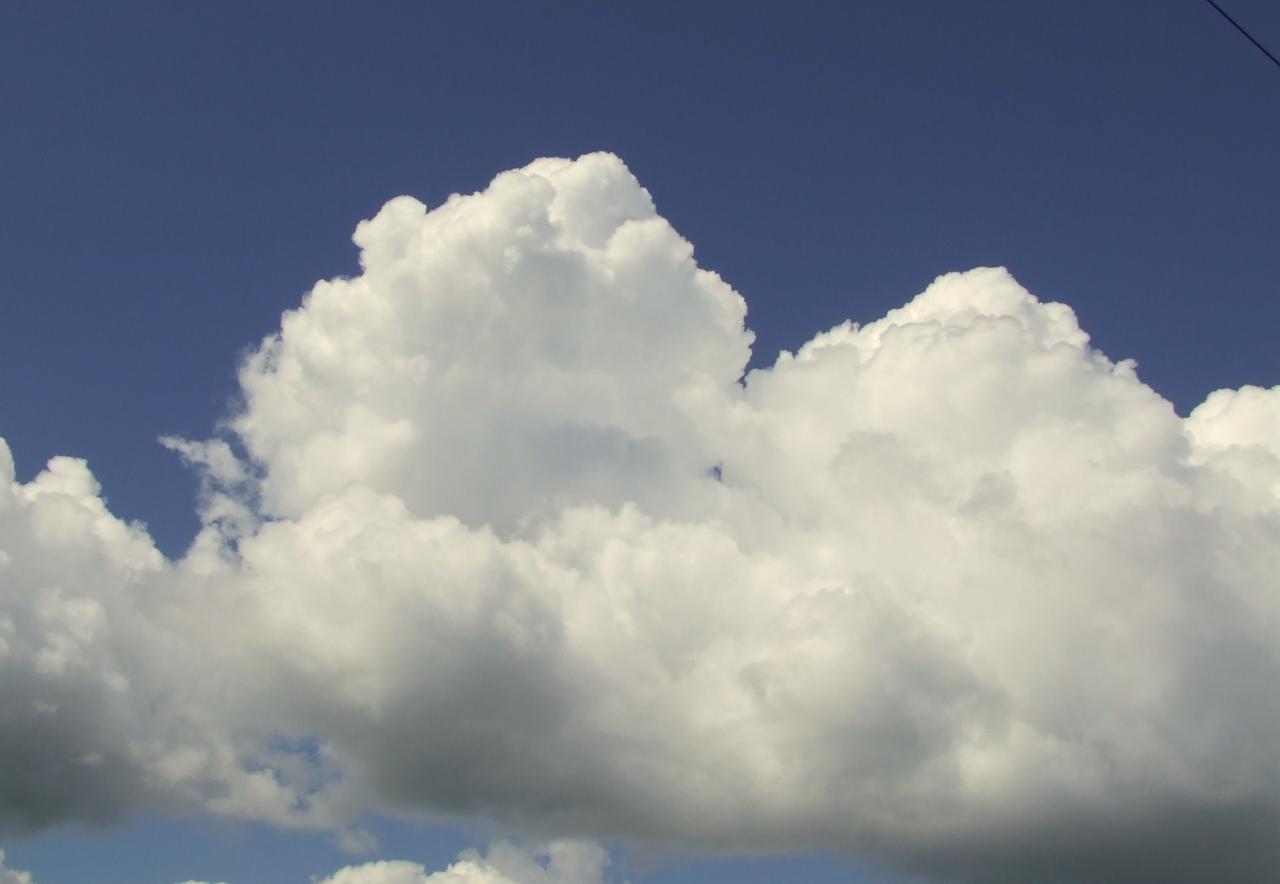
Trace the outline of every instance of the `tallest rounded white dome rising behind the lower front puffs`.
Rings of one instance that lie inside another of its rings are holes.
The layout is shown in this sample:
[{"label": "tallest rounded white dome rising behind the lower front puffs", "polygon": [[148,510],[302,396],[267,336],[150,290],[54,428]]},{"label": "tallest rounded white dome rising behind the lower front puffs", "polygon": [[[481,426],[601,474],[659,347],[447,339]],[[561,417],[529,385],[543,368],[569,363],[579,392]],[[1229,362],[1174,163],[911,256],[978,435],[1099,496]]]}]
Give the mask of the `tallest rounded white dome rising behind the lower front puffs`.
[{"label": "tallest rounded white dome rising behind the lower front puffs", "polygon": [[[672,509],[710,464],[680,393],[732,385],[745,306],[608,155],[539,160],[356,230],[241,371],[270,514],[358,482],[508,528],[567,501]],[[445,464],[448,464],[445,467]]]}]

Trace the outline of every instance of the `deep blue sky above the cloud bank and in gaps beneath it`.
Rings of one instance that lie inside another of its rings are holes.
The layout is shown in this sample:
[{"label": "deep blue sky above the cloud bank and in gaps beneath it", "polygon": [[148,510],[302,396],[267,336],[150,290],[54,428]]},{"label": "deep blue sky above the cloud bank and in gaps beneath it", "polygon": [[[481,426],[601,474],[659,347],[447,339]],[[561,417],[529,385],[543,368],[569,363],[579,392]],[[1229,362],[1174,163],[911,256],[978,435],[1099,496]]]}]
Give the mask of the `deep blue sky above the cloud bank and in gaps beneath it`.
[{"label": "deep blue sky above the cloud bank and in gaps beneath it", "polygon": [[[1228,8],[1280,45],[1275,4]],[[1280,383],[1277,107],[1280,70],[1198,0],[19,0],[0,13],[0,435],[18,481],[86,458],[111,512],[180,556],[198,477],[157,436],[236,411],[238,361],[282,311],[360,272],[360,220],[593,151],[745,298],[754,367],[1005,266],[1187,416]],[[490,834],[366,824],[376,856],[429,869]],[[45,884],[355,861],[324,834],[155,811],[3,834]],[[635,881],[891,880],[804,851],[646,870],[617,849]]]}]

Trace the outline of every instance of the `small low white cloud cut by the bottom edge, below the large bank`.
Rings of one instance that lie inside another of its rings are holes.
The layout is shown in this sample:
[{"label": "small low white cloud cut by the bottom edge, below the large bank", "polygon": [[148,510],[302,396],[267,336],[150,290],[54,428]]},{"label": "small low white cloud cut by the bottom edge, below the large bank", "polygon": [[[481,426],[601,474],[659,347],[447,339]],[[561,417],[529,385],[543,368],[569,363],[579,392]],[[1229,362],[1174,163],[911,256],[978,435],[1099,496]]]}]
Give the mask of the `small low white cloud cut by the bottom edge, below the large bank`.
[{"label": "small low white cloud cut by the bottom edge, below the large bank", "polygon": [[590,842],[553,841],[540,851],[494,844],[488,856],[465,852],[444,871],[416,862],[348,866],[316,884],[603,884],[608,857]]}]

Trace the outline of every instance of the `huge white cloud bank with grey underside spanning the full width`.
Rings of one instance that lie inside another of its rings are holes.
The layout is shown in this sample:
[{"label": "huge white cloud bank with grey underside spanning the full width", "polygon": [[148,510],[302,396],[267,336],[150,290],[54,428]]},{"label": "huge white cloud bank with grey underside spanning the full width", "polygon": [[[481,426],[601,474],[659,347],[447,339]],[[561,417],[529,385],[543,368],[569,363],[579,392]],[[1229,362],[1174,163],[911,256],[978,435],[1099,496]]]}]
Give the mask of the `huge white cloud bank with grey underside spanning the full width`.
[{"label": "huge white cloud bank with grey underside spanning the full width", "polygon": [[[227,438],[166,440],[182,559],[0,463],[4,825],[1280,876],[1280,388],[1181,418],[995,269],[744,377],[742,299],[603,154],[355,238]],[[436,880],[384,866],[332,880]]]}]

